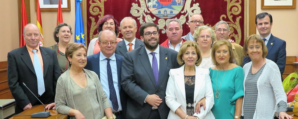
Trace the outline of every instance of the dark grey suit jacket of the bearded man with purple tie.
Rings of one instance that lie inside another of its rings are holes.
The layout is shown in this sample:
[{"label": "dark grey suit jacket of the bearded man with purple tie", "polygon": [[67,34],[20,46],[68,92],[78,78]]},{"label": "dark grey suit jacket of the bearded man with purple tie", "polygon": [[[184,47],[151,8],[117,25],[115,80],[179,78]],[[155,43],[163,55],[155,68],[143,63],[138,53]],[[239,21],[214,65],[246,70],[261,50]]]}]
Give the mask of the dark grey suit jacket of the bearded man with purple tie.
[{"label": "dark grey suit jacket of the bearded man with purple tie", "polygon": [[[145,50],[141,46],[125,54],[122,62],[121,87],[128,94],[126,118],[147,119],[152,106],[144,103],[147,95],[156,94],[165,100],[165,91],[169,79],[169,71],[178,68],[177,52],[159,46],[159,80],[156,86],[155,78]],[[166,119],[170,111],[169,107],[162,102],[158,106],[161,119]]]}]

